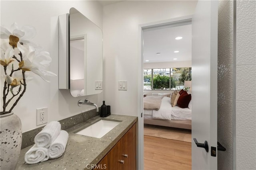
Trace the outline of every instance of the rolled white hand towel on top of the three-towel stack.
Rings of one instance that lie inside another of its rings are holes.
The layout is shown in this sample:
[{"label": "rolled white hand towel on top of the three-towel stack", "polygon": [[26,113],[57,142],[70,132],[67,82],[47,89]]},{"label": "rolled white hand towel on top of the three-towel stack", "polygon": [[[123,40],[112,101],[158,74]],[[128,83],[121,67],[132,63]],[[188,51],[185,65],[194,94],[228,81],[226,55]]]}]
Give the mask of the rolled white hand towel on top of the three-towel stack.
[{"label": "rolled white hand towel on top of the three-towel stack", "polygon": [[34,142],[37,147],[46,147],[48,148],[50,144],[58,137],[60,134],[61,125],[58,121],[51,121],[48,123],[42,131],[40,131]]}]

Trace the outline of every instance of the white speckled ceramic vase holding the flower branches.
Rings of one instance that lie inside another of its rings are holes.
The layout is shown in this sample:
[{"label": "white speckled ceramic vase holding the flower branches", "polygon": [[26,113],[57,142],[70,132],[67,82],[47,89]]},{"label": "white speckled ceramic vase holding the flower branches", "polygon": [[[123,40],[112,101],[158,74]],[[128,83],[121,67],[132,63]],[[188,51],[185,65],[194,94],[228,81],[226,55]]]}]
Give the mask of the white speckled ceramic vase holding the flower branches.
[{"label": "white speckled ceramic vase holding the flower branches", "polygon": [[20,156],[22,127],[20,118],[13,112],[0,116],[1,155],[0,169],[14,170]]}]

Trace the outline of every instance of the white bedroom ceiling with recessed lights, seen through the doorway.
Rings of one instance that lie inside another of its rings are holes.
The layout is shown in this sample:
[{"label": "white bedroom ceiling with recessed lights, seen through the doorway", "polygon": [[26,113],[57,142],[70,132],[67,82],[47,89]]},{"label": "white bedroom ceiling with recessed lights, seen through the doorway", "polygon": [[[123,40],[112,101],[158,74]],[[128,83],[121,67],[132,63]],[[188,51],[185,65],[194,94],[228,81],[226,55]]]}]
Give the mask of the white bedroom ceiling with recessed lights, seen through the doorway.
[{"label": "white bedroom ceiling with recessed lights, seen through the doorway", "polygon": [[[183,38],[176,40],[176,37]],[[191,38],[191,24],[145,30],[143,32],[144,63],[191,61]],[[174,51],[179,52],[174,53]]]}]

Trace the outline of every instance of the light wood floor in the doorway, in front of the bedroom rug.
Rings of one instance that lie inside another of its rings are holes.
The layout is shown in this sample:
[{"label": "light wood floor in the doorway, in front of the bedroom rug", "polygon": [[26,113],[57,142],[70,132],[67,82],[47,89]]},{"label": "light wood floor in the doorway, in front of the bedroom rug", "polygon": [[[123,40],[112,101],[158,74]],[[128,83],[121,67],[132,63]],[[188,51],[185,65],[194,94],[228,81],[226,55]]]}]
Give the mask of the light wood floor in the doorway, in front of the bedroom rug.
[{"label": "light wood floor in the doorway, in front of the bedroom rug", "polygon": [[191,170],[191,143],[144,135],[144,170]]}]

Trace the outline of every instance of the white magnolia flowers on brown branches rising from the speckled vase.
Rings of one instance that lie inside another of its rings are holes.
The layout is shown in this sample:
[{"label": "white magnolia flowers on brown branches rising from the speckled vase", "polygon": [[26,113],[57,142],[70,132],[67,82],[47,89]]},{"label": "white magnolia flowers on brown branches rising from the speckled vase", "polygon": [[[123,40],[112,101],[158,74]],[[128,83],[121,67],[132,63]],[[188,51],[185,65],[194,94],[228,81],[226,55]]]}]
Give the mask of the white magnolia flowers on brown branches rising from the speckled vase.
[{"label": "white magnolia flowers on brown branches rising from the speckled vase", "polygon": [[[30,41],[36,35],[36,29],[29,25],[21,28],[17,23],[11,25],[10,31],[1,26],[1,86],[3,86],[3,110],[1,115],[10,113],[26,92],[28,73],[33,72],[46,82],[47,76],[56,76],[47,71],[52,61],[50,54]],[[1,73],[2,74],[2,73]],[[3,81],[2,81],[3,80]],[[8,105],[12,106],[8,108]]]}]

